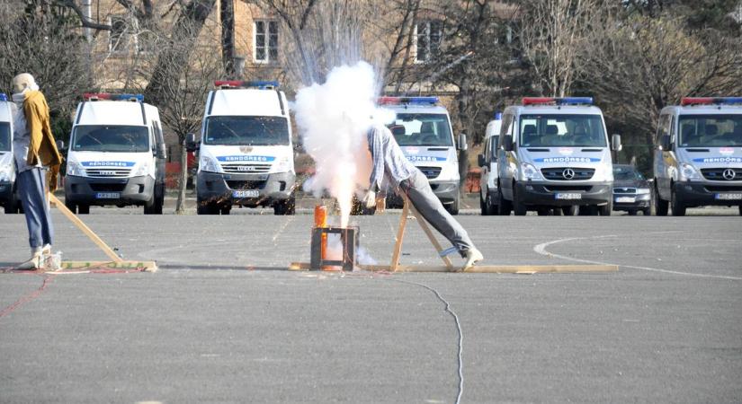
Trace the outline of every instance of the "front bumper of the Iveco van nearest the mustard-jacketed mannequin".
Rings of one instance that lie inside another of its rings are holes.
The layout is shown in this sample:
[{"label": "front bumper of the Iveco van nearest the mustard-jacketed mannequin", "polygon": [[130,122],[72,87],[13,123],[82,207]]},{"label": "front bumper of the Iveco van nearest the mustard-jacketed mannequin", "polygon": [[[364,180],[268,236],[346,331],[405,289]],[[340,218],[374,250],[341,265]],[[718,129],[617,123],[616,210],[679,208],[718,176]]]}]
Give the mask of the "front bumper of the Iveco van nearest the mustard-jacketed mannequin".
[{"label": "front bumper of the Iveco van nearest the mustard-jacketed mannequin", "polygon": [[[154,189],[155,179],[148,175],[130,178],[65,177],[65,201],[75,204],[144,205],[152,198]],[[112,194],[118,198],[112,198]]]}]

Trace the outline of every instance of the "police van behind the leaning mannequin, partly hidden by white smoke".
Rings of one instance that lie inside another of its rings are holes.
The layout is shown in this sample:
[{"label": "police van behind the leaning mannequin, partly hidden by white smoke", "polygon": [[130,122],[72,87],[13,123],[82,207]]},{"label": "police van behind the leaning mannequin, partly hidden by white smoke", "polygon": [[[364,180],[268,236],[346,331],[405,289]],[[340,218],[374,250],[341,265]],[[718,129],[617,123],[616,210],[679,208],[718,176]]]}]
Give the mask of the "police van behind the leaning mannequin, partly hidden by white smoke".
[{"label": "police van behind the leaning mannequin, partly hidden by white smoke", "polygon": [[[466,136],[453,136],[448,110],[438,104],[437,97],[380,97],[379,105],[397,113],[389,130],[407,160],[425,174],[446,210],[458,215],[458,152],[466,150]],[[387,198],[390,207],[402,205],[393,192],[389,192]]]}]

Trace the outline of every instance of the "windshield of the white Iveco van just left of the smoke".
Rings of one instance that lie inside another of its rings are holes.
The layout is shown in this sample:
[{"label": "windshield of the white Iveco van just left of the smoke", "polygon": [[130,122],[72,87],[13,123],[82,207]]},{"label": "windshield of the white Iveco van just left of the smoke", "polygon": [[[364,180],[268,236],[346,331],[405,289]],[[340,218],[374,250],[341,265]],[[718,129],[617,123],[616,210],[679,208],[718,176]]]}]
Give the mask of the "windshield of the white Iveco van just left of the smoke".
[{"label": "windshield of the white Iveco van just left of the smoke", "polygon": [[289,145],[289,122],[282,117],[209,117],[206,145]]}]

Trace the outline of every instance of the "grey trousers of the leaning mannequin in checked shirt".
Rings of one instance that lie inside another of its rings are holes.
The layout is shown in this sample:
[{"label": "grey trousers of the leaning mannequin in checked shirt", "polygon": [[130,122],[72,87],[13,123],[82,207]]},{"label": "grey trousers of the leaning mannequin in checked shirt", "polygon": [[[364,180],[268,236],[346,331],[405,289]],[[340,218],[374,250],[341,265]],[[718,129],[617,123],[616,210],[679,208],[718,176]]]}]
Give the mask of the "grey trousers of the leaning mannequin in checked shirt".
[{"label": "grey trousers of the leaning mannequin in checked shirt", "polygon": [[407,195],[417,212],[459,250],[461,257],[465,256],[467,250],[474,248],[469,234],[446,211],[422,172],[416,170],[410,178],[399,183],[399,189]]}]

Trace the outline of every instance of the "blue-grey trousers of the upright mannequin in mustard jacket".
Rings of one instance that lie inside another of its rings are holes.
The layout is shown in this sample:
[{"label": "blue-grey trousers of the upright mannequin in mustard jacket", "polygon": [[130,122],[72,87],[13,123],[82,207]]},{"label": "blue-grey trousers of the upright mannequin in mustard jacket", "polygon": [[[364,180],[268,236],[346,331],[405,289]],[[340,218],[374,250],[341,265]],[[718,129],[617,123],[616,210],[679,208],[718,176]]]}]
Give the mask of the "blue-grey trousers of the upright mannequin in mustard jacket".
[{"label": "blue-grey trousers of the upright mannequin in mustard jacket", "polygon": [[18,174],[18,194],[21,198],[26,224],[29,228],[31,248],[51,244],[54,228],[51,225],[49,205],[47,205],[44,171],[38,167]]}]

